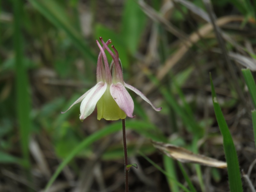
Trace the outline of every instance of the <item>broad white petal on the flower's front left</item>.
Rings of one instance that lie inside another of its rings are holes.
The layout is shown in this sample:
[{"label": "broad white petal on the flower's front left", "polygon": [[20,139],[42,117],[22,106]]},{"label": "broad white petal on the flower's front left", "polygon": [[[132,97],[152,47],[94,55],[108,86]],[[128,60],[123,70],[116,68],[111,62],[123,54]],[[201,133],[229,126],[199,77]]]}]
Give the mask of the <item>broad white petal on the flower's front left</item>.
[{"label": "broad white petal on the flower's front left", "polygon": [[83,121],[86,117],[92,114],[95,109],[95,106],[101,96],[107,89],[107,83],[99,82],[94,87],[92,87],[92,91],[89,92],[80,106],[80,120]]}]

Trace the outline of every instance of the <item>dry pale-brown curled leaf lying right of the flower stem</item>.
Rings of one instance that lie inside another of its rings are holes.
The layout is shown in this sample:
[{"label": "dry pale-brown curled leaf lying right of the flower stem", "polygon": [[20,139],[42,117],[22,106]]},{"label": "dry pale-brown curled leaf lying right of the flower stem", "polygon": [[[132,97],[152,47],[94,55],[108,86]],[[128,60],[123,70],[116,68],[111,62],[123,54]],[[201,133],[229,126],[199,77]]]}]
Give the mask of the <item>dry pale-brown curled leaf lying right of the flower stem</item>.
[{"label": "dry pale-brown curled leaf lying right of the flower stem", "polygon": [[156,141],[152,141],[152,143],[154,147],[160,150],[162,153],[182,163],[197,163],[221,169],[227,168],[226,162],[219,161],[211,157],[194,154],[185,148]]}]

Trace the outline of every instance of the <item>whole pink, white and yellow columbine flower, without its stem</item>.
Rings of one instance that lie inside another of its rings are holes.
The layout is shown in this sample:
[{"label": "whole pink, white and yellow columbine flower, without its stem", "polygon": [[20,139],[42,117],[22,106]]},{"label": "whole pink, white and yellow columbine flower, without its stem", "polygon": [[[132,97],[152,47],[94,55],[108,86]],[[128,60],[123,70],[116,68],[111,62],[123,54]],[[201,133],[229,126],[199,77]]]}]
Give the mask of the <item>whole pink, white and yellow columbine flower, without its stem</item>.
[{"label": "whole pink, white and yellow columbine flower, without its stem", "polygon": [[[148,100],[145,95],[142,94],[142,92],[140,92],[133,86],[124,83],[123,71],[121,68],[121,62],[119,60],[117,50],[113,45],[111,46],[115,52],[114,54],[108,48],[108,44],[111,43],[110,39],[105,43],[102,37],[100,37],[100,41],[103,44],[102,47],[99,41],[96,40],[96,43],[100,48],[100,54],[97,63],[97,84],[89,91],[84,93],[78,100],[76,100],[68,108],[68,110],[76,103],[82,101],[80,106],[81,121],[83,121],[86,117],[92,114],[96,105],[98,111],[98,120],[100,120],[101,118],[104,118],[106,120],[118,120],[124,119],[126,116],[134,117],[132,115],[134,103],[132,97],[125,89],[126,87],[139,95],[143,100],[148,102],[153,109],[155,109],[156,111],[160,111],[162,108],[154,107],[154,105]],[[110,68],[108,65],[107,56],[104,52],[105,49],[113,58]],[[104,65],[102,62],[102,57]],[[110,71],[112,72],[112,75]],[[66,113],[67,111],[61,113]]]}]

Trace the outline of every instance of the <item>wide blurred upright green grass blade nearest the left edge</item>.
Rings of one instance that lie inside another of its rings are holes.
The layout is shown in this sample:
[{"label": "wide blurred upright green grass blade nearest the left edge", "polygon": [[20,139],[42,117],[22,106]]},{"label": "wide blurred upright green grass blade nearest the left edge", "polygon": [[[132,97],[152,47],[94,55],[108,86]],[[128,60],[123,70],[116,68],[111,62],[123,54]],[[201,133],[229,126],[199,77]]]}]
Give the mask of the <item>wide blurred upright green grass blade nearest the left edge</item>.
[{"label": "wide blurred upright green grass blade nearest the left edge", "polygon": [[21,149],[25,167],[29,167],[28,141],[31,122],[29,118],[30,96],[28,93],[28,76],[24,66],[23,47],[21,36],[22,25],[22,2],[13,1],[14,8],[14,49],[15,49],[15,68],[16,68],[16,100],[17,114],[20,127]]}]

